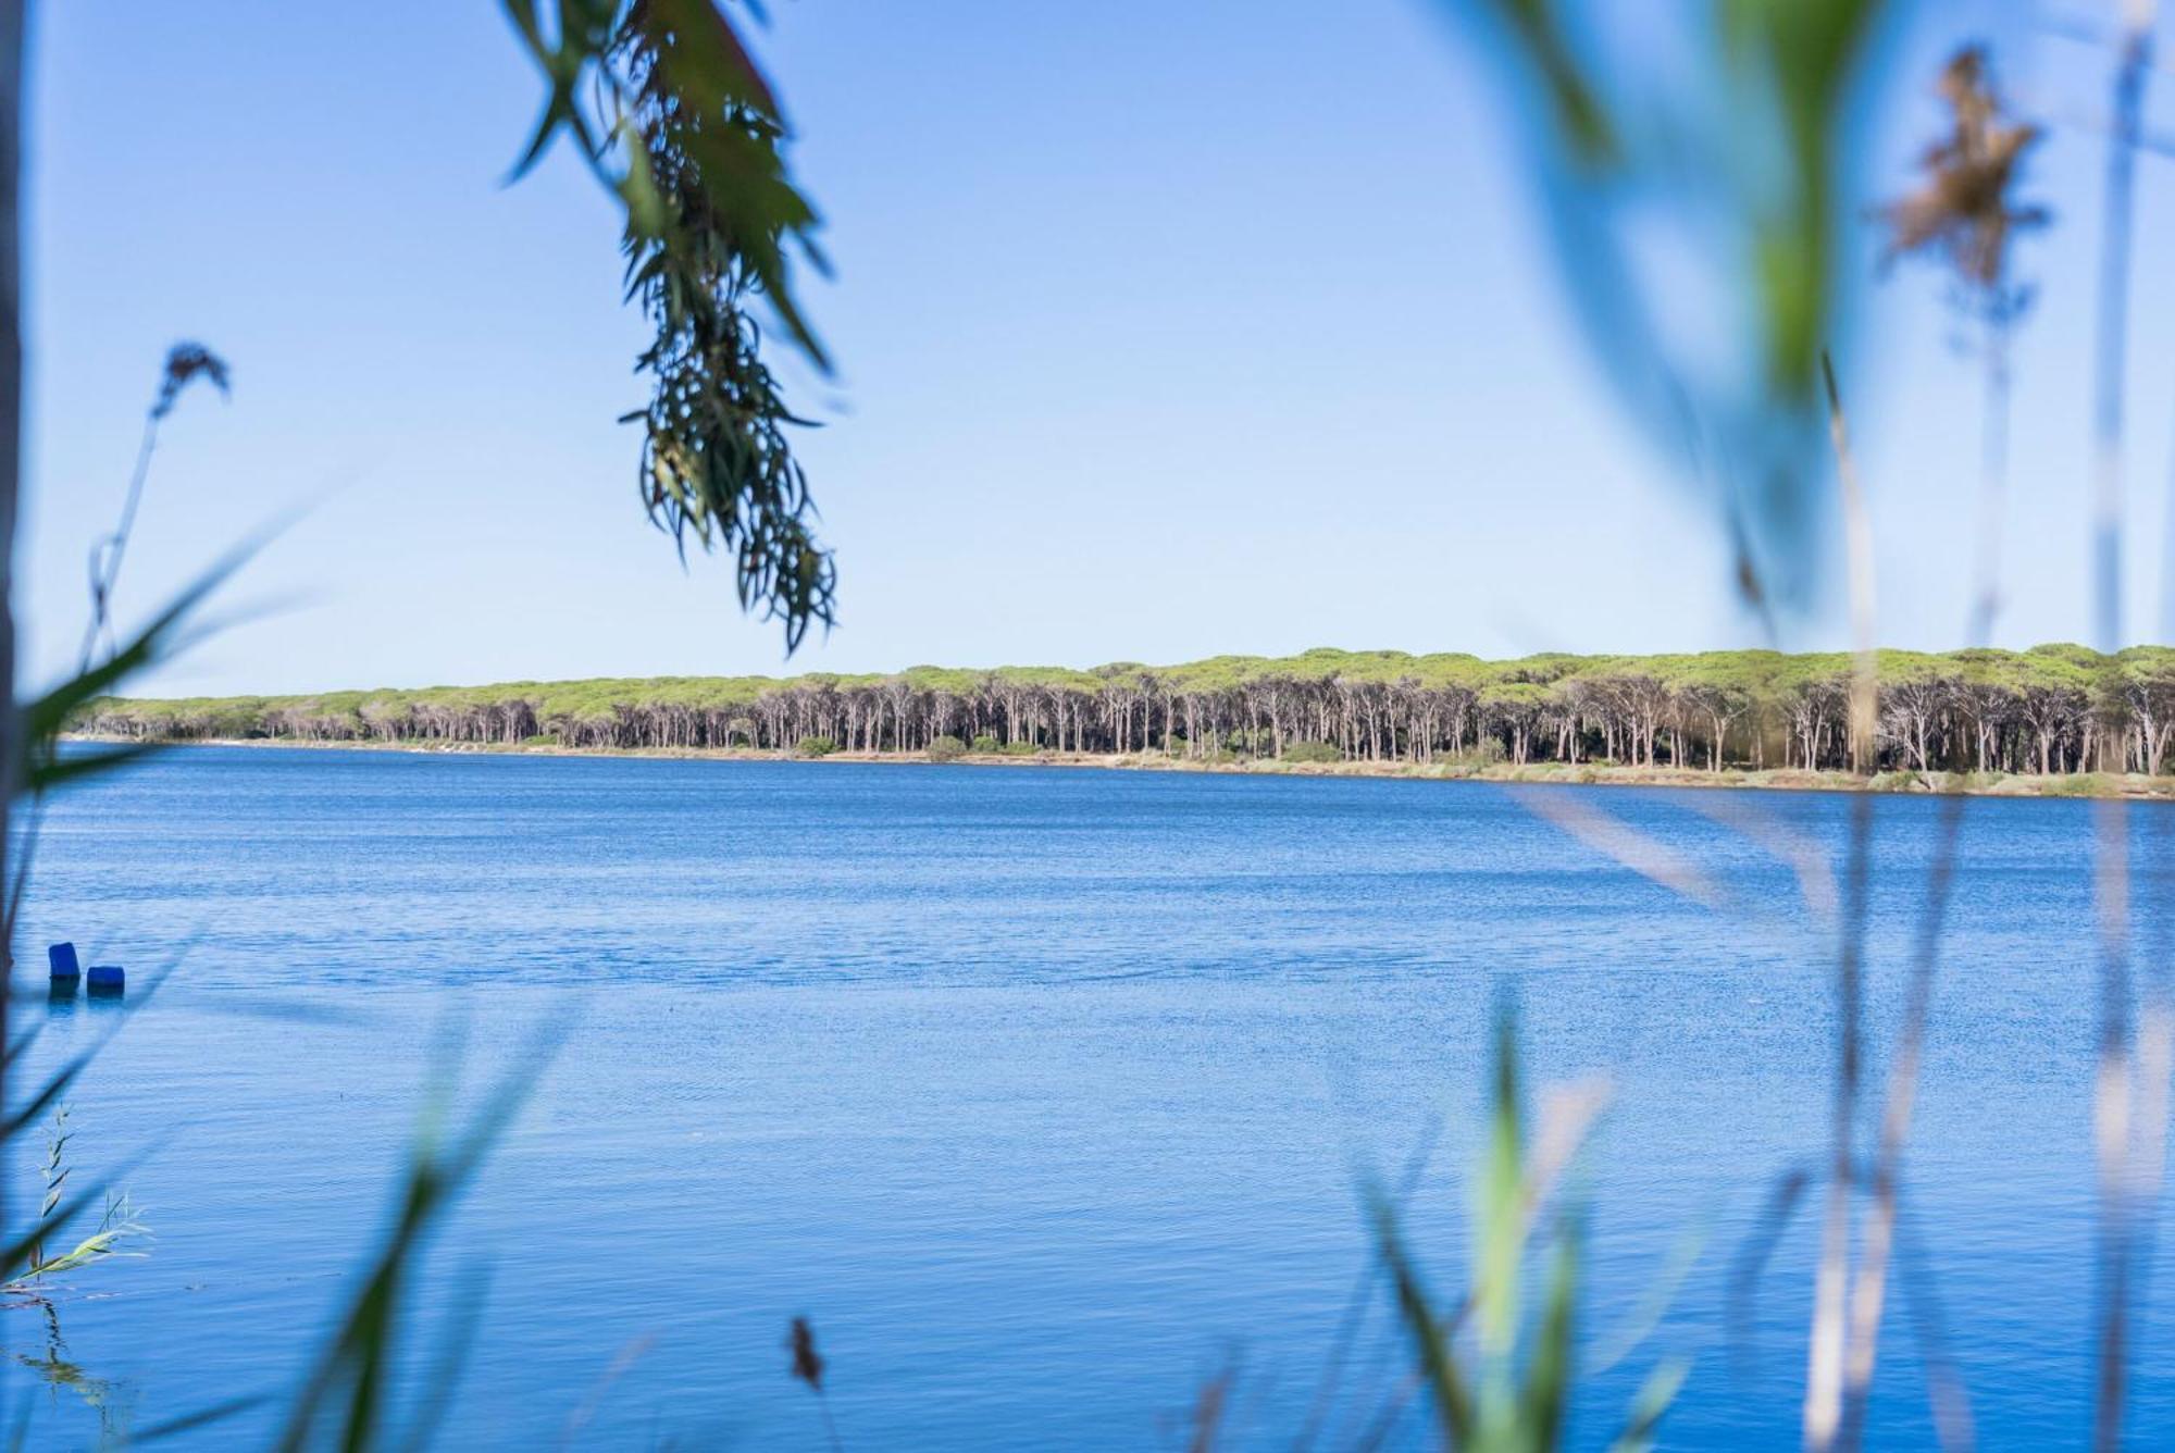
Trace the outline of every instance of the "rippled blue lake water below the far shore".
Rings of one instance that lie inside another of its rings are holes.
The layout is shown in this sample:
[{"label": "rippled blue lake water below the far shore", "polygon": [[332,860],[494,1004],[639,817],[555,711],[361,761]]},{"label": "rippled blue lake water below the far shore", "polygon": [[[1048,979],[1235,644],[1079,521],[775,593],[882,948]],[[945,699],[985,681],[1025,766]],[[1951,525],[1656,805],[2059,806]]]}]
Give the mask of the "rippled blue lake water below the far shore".
[{"label": "rippled blue lake water below the far shore", "polygon": [[[1736,1342],[1729,1290],[1777,1179],[1825,1146],[1831,937],[1792,866],[1707,811],[1836,857],[1849,798],[1555,792],[1720,901],[1486,785],[170,753],[52,809],[22,933],[39,974],[72,937],[137,985],[126,1018],[52,1014],[35,1059],[120,1029],[72,1096],[72,1157],[126,1168],[150,1257],[83,1275],[52,1320],[0,1312],[4,1392],[37,1405],[33,1446],[85,1446],[102,1416],[291,1388],[385,1225],[433,1064],[472,1098],[559,1027],[415,1286],[411,1390],[481,1299],[446,1446],[822,1449],[785,1375],[800,1314],[848,1449],[1183,1446],[1227,1370],[1233,1446],[1292,1446],[1309,1409],[1318,1446],[1353,1446],[1405,1366],[1377,1294],[1322,1392],[1366,1286],[1359,1188],[1440,1129],[1409,1231],[1459,1281],[1507,992],[1533,1079],[1616,1090],[1579,1181],[1590,1353],[1696,1253],[1586,1383],[1573,1444],[1603,1446],[1646,1368],[1686,1355],[1666,1446],[1794,1446],[1812,1222]],[[1886,1042],[1940,805],[1875,811]],[[2129,818],[2164,872],[2168,809]],[[1962,844],[1873,1442],[1931,1438],[1936,1349],[1984,1444],[2081,1446],[2090,805],[1979,800]],[[2164,942],[2140,927],[2158,961]],[[2153,1307],[2136,1446],[2175,1442],[2168,1333]]]}]

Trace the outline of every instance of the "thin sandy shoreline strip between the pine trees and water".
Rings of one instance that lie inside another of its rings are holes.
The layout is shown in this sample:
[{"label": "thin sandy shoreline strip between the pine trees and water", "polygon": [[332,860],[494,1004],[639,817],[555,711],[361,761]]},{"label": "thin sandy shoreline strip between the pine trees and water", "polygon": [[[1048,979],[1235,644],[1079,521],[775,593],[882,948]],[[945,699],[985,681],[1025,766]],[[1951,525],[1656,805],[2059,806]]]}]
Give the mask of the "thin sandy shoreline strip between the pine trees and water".
[{"label": "thin sandy shoreline strip between the pine trees and water", "polygon": [[[122,744],[128,737],[67,733],[65,742]],[[2047,798],[2123,798],[2175,800],[2175,777],[2149,779],[2138,772],[2123,777],[2101,772],[2058,772],[2049,777],[2003,772],[1884,772],[1866,779],[1851,772],[1807,772],[1805,768],[1742,770],[1723,768],[1625,768],[1594,763],[1533,761],[1527,766],[1490,763],[1412,763],[1412,761],[1279,761],[1255,757],[1244,761],[1198,761],[1161,753],[966,753],[950,761],[931,761],[924,753],[824,753],[800,757],[750,748],[694,746],[539,746],[533,742],[298,742],[270,737],[204,737],[161,742],[163,748],[250,746],[270,750],[341,750],[405,753],[420,757],[648,757],[663,761],[853,761],[861,766],[977,766],[977,768],[1092,768],[1105,772],[1220,772],[1235,777],[1379,777],[1403,781],[1468,781],[1499,785],[1557,787],[1742,787],[1760,792],[1886,792],[1912,796],[2047,796]]]}]

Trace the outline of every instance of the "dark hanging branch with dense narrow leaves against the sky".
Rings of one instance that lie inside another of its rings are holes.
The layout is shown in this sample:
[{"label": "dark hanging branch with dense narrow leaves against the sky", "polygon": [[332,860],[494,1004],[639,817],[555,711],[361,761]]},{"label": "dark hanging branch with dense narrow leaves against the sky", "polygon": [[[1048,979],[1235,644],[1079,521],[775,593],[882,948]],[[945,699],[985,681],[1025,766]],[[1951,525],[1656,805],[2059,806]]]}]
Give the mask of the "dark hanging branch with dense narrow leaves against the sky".
[{"label": "dark hanging branch with dense narrow leaves against the sky", "polygon": [[[546,20],[550,11],[550,20]],[[824,268],[818,218],[783,159],[785,117],[713,0],[507,0],[550,83],[515,174],[561,131],[626,209],[626,296],[657,331],[635,359],[644,509],[687,555],[726,550],[742,609],[785,648],[835,622],[835,568],[755,318],[761,300],[813,363],[829,357],[792,294],[792,254]]]}]

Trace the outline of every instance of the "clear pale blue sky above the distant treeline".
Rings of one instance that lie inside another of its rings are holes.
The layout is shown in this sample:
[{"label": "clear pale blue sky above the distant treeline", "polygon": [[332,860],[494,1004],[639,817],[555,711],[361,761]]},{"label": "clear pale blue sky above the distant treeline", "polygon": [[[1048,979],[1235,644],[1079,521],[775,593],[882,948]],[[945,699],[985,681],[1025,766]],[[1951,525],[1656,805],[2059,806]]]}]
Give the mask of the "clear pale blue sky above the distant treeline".
[{"label": "clear pale blue sky above the distant treeline", "polygon": [[[785,0],[761,52],[835,278],[803,455],[842,626],[792,670],[1307,646],[1755,644],[1712,518],[1601,387],[1468,37],[1425,0]],[[1931,72],[1949,11],[1901,65]],[[2058,126],[2023,254],[2003,644],[2081,639],[2103,52],[1981,11]],[[2064,11],[2068,15],[2068,11]],[[616,220],[489,0],[39,7],[26,670],[65,666],[163,350],[122,613],[294,507],[161,692],[776,672],[642,518]],[[2162,80],[2162,87],[2168,83]],[[2155,117],[2175,120],[2160,107]],[[1866,202],[1929,100],[1875,128]],[[2175,161],[2142,165],[2132,603],[2160,635]],[[1870,237],[1866,237],[1870,248]],[[1938,283],[1868,287],[1853,394],[1888,644],[1962,642],[1977,378]],[[1788,626],[1834,646],[1840,611]]]}]

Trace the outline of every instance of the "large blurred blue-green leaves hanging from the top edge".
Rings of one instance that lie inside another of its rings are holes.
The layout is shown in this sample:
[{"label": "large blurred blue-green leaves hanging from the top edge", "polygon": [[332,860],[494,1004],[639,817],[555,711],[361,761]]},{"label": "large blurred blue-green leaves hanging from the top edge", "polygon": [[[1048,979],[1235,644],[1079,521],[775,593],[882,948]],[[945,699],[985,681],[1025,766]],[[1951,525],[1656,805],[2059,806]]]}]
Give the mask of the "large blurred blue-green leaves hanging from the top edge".
[{"label": "large blurred blue-green leaves hanging from the top edge", "polygon": [[[1557,274],[1673,468],[1723,500],[1742,594],[1807,600],[1825,502],[1818,357],[1849,257],[1842,122],[1879,0],[1662,7],[1668,65],[1607,65],[1594,7],[1459,2],[1509,83]],[[1666,224],[1657,224],[1668,220]],[[1655,265],[1657,248],[1670,265]],[[1657,278],[1696,270],[1727,333],[1688,346]],[[1694,455],[1694,457],[1688,457]],[[1731,470],[1712,489],[1703,461]],[[1773,576],[1773,587],[1770,587]]]}]

